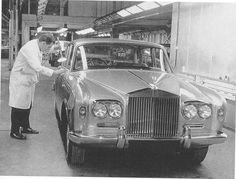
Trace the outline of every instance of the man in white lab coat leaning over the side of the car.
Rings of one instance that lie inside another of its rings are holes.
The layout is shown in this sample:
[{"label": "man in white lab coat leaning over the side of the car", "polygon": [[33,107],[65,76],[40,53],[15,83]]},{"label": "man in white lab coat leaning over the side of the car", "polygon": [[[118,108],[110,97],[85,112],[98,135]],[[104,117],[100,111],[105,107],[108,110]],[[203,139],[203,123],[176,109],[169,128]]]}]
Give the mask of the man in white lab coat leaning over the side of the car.
[{"label": "man in white lab coat leaning over the side of the car", "polygon": [[[52,70],[44,67],[42,54],[47,53],[54,43],[51,34],[42,34],[38,39],[27,42],[19,51],[10,75],[9,106],[11,107],[11,133],[15,139],[26,139],[22,133],[38,134],[29,124],[29,114],[33,105],[35,84],[39,74],[58,75],[64,69]],[[21,131],[21,129],[23,129]]]}]

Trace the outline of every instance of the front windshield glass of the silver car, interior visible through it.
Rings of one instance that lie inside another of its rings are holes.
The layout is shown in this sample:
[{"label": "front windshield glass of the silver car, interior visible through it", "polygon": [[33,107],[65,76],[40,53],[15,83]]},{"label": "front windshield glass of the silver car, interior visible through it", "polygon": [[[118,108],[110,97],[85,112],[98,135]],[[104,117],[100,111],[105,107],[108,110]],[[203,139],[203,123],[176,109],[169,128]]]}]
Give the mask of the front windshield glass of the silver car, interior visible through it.
[{"label": "front windshield glass of the silver car, interior visible through it", "polygon": [[88,69],[129,68],[171,72],[161,48],[137,44],[84,45]]}]

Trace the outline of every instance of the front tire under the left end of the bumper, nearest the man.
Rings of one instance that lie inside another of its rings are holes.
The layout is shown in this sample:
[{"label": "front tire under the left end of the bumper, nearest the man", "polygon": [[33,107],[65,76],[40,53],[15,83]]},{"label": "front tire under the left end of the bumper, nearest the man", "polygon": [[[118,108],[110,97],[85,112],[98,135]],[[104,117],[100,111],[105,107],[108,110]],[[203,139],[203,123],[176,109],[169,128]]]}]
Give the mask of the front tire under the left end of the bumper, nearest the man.
[{"label": "front tire under the left end of the bumper, nearest the man", "polygon": [[67,126],[66,160],[68,164],[82,165],[85,162],[85,149],[69,140],[69,125]]}]

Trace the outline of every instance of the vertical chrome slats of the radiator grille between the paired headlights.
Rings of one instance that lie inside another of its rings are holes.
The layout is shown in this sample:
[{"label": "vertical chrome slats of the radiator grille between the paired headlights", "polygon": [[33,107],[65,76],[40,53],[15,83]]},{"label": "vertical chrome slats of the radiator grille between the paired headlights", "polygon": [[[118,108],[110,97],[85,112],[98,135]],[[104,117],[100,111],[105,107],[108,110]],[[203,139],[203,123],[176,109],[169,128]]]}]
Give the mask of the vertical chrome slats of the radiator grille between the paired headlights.
[{"label": "vertical chrome slats of the radiator grille between the paired headlights", "polygon": [[179,97],[130,97],[127,135],[164,138],[177,135]]}]

